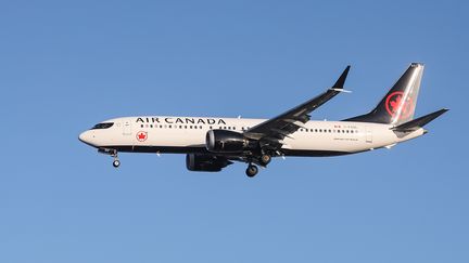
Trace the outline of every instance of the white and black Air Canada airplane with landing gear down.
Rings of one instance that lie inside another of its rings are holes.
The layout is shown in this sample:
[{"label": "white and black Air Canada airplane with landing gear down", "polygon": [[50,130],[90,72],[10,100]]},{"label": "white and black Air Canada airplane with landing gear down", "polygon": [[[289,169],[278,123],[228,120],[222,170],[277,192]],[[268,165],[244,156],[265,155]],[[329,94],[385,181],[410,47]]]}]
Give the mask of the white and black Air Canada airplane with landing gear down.
[{"label": "white and black Air Canada airplane with landing gear down", "polygon": [[271,119],[137,116],[105,120],[79,141],[113,157],[118,153],[186,154],[190,171],[219,172],[248,163],[249,177],[274,157],[341,156],[391,148],[419,137],[423,127],[448,109],[414,119],[424,65],[411,63],[369,113],[340,121],[312,120],[310,114],[344,90],[348,65],[324,93]]}]

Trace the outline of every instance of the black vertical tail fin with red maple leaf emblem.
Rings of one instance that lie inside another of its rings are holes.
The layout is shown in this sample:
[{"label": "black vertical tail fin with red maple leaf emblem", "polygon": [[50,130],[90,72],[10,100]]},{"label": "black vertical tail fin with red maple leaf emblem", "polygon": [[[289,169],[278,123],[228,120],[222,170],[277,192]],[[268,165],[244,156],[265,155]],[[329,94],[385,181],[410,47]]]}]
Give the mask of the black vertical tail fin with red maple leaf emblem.
[{"label": "black vertical tail fin with red maple leaf emblem", "polygon": [[397,80],[378,106],[369,114],[360,115],[346,121],[363,121],[402,124],[414,119],[423,64],[413,63]]}]

